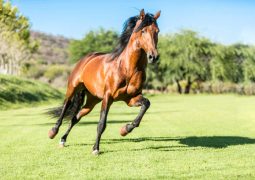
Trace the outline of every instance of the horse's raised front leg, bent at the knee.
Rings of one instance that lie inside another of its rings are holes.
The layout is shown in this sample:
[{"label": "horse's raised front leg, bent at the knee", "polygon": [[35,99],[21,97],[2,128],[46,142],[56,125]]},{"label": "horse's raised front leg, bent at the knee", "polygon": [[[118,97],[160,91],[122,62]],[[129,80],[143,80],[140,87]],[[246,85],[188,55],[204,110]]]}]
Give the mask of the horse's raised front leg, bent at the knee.
[{"label": "horse's raised front leg, bent at the knee", "polygon": [[143,115],[147,111],[147,109],[150,107],[150,101],[146,98],[144,98],[141,94],[130,99],[129,101],[126,102],[128,106],[131,107],[138,107],[141,106],[141,110],[137,117],[134,119],[134,121],[131,124],[126,124],[120,129],[120,134],[122,136],[126,136],[128,133],[130,133],[134,128],[138,127]]}]

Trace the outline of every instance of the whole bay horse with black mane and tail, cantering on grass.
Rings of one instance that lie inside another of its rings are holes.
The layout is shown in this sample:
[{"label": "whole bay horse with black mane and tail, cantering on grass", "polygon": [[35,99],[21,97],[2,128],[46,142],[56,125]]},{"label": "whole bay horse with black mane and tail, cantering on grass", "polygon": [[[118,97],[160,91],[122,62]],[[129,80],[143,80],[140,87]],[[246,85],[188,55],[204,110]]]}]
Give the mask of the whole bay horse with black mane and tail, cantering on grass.
[{"label": "whole bay horse with black mane and tail, cantering on grass", "polygon": [[[60,145],[64,147],[72,127],[101,101],[93,154],[99,154],[100,138],[114,101],[124,101],[130,107],[141,106],[138,116],[131,124],[123,126],[120,134],[125,136],[139,126],[150,106],[150,101],[142,95],[146,66],[159,59],[159,28],[156,21],[159,16],[160,11],[153,15],[145,14],[142,9],[138,16],[130,17],[125,22],[118,45],[112,53],[91,53],[76,64],[68,79],[63,106],[50,110],[59,119],[48,132],[49,138],[53,139],[57,135],[63,118],[71,117],[71,123],[60,140]],[[83,105],[85,95],[86,102]]]}]

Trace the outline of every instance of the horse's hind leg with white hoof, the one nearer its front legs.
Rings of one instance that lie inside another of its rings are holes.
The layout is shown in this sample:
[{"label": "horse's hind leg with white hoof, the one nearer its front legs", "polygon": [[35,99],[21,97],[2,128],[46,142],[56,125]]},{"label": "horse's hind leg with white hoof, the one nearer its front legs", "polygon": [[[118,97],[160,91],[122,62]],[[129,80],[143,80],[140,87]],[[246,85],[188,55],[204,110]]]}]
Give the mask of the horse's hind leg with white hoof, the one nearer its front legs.
[{"label": "horse's hind leg with white hoof, the one nearer its front legs", "polygon": [[89,114],[98,102],[100,102],[99,99],[94,98],[89,93],[87,94],[87,100],[86,100],[85,105],[77,113],[77,115],[72,118],[71,123],[70,123],[66,133],[61,137],[61,140],[60,140],[60,143],[59,143],[60,147],[64,147],[67,136],[69,135],[69,133],[70,133],[71,129],[73,128],[73,126],[75,124],[77,124],[83,116]]}]

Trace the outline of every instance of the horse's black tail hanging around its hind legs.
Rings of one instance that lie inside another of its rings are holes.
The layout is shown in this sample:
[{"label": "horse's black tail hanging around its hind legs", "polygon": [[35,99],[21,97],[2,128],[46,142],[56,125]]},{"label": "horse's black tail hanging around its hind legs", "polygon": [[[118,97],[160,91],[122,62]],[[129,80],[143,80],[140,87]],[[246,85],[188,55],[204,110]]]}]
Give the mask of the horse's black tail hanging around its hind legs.
[{"label": "horse's black tail hanging around its hind legs", "polygon": [[[84,98],[85,98],[85,89],[77,90],[71,99],[70,105],[68,106],[66,113],[64,114],[64,119],[72,119],[81,109]],[[62,112],[63,106],[49,109],[46,113],[49,114],[52,118],[58,118]]]}]

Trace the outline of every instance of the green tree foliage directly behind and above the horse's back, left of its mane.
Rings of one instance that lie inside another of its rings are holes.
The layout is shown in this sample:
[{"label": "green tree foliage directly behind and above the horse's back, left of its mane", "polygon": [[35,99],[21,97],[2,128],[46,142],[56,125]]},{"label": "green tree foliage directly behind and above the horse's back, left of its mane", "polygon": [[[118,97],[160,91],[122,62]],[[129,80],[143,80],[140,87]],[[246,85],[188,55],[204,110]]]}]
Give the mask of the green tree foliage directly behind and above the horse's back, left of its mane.
[{"label": "green tree foliage directly behind and above the horse's back, left of its mane", "polygon": [[110,52],[116,45],[118,33],[99,29],[88,32],[82,40],[73,40],[69,45],[70,61],[77,62],[81,57],[91,52]]}]

